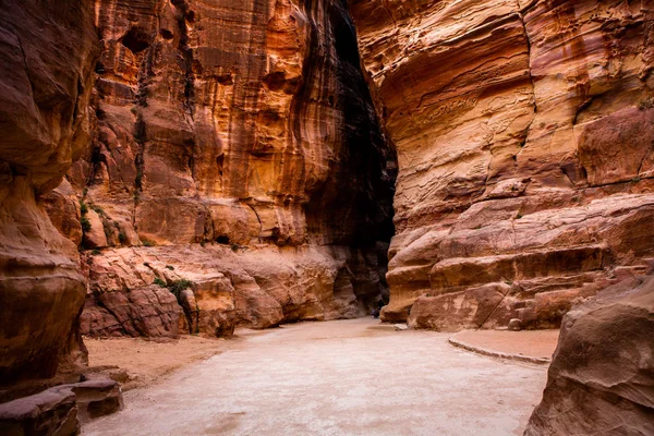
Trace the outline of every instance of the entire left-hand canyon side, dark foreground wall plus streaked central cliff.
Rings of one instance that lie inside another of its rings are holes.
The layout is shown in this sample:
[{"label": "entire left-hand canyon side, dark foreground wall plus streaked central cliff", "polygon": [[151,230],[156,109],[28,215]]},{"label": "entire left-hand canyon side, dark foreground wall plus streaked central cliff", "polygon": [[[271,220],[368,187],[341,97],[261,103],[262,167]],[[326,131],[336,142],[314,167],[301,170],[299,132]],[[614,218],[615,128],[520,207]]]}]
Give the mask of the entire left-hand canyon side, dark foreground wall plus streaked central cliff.
[{"label": "entire left-hand canyon side, dark foreground wall plus streaked central cliff", "polygon": [[387,298],[396,157],[347,7],[237,3],[0,2],[0,385],[83,363],[80,334]]}]

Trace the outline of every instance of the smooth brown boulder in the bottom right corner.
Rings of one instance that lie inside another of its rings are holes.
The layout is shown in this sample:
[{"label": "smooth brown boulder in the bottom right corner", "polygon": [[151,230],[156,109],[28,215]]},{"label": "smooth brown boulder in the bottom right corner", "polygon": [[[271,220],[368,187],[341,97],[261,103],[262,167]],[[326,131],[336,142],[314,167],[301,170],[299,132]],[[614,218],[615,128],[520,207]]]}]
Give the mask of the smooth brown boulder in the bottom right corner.
[{"label": "smooth brown boulder in the bottom right corner", "polygon": [[570,311],[524,434],[654,433],[653,337],[653,276],[622,281]]}]

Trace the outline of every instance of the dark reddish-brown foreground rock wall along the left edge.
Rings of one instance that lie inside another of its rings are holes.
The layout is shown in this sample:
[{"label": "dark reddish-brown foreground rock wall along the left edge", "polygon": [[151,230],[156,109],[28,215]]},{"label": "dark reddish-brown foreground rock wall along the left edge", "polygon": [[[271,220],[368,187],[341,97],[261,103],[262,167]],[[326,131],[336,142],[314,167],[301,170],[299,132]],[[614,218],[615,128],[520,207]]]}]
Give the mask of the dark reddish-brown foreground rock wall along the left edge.
[{"label": "dark reddish-brown foreground rock wall along the left edge", "polygon": [[96,45],[89,2],[0,2],[0,385],[50,376],[76,348],[85,280],[46,205],[90,137]]}]

